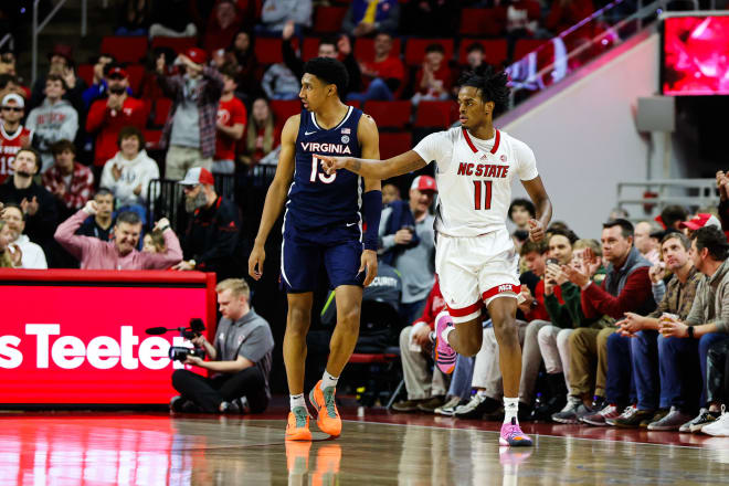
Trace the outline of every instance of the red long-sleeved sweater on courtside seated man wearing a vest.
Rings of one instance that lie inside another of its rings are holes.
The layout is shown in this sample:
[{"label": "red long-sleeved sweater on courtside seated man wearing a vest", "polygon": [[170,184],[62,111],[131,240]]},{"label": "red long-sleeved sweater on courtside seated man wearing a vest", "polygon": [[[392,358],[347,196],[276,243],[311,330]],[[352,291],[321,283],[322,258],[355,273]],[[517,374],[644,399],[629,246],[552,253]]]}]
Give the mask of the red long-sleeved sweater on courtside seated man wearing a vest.
[{"label": "red long-sleeved sweater on courtside seated man wearing a vest", "polygon": [[623,318],[625,313],[634,313],[640,309],[646,300],[653,300],[651,277],[647,266],[636,268],[625,279],[625,286],[620,295],[614,296],[605,290],[605,281],[602,285],[594,282],[582,290],[580,298],[582,311],[588,319],[608,315],[615,319]]}]

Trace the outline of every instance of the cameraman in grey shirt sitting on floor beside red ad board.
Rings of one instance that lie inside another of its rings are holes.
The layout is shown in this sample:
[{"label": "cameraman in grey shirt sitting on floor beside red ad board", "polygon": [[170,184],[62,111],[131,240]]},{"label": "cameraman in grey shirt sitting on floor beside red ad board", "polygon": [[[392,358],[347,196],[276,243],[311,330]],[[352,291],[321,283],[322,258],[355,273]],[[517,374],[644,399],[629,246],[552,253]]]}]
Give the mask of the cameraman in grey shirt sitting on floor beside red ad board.
[{"label": "cameraman in grey shirt sitting on floor beside red ad board", "polygon": [[[188,356],[186,364],[213,372],[205,378],[189,370],[172,373],[172,387],[180,393],[170,402],[175,412],[261,413],[268,405],[273,335],[268,323],[249,305],[249,284],[229,278],[215,287],[218,306],[223,317],[211,345],[204,336],[192,339],[203,348],[210,361]],[[239,401],[239,399],[241,399]],[[245,403],[241,410],[241,402]]]}]

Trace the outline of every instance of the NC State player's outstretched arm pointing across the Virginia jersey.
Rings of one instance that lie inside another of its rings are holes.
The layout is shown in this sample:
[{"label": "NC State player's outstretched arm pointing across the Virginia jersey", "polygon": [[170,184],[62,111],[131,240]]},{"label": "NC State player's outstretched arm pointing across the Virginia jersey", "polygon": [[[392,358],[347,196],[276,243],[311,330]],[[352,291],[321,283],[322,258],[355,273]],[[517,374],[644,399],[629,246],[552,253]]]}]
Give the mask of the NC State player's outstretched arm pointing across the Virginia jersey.
[{"label": "NC State player's outstretched arm pointing across the Virginia jersey", "polygon": [[347,169],[351,172],[359,173],[363,178],[379,180],[402,176],[427,165],[414,150],[408,150],[387,160],[356,159],[353,157],[317,157],[321,159],[321,166],[329,175],[339,169]]}]

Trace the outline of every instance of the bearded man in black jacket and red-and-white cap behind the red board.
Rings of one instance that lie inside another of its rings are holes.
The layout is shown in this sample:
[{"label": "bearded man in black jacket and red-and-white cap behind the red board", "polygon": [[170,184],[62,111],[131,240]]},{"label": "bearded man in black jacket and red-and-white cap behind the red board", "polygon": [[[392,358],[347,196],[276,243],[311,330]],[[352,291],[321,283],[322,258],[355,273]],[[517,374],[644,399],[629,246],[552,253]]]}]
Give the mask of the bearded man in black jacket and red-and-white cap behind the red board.
[{"label": "bearded man in black jacket and red-and-white cap behind the red board", "polygon": [[237,208],[215,193],[214,182],[202,167],[188,170],[178,182],[184,192],[184,209],[192,218],[182,240],[184,260],[173,268],[214,272],[221,282],[242,275],[241,223]]}]

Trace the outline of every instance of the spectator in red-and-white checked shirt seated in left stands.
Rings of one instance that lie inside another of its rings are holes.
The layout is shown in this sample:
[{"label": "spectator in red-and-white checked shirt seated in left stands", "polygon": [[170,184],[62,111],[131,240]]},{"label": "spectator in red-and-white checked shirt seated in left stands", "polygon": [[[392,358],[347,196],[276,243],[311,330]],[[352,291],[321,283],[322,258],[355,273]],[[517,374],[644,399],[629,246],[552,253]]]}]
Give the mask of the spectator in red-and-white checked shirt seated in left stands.
[{"label": "spectator in red-and-white checked shirt seated in left stands", "polygon": [[59,214],[66,219],[86,204],[94,192],[94,175],[76,162],[76,147],[70,140],[56,141],[51,147],[55,163],[43,172],[43,186],[59,203]]}]

